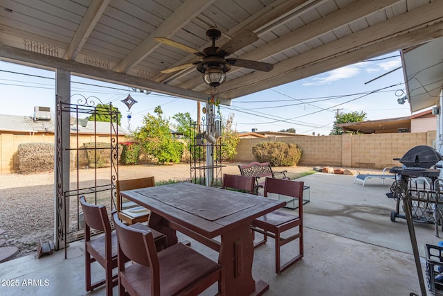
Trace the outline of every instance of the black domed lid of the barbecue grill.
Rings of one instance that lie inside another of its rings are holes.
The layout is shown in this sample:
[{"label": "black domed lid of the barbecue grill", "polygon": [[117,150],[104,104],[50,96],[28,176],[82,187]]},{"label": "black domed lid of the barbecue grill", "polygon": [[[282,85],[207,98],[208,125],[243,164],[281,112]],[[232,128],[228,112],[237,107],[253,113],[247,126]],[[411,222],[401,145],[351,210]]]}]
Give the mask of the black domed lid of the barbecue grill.
[{"label": "black domed lid of the barbecue grill", "polygon": [[431,168],[431,166],[434,166],[440,160],[443,160],[443,157],[440,153],[437,153],[434,148],[420,145],[410,148],[410,150],[401,157],[400,162],[407,168]]}]

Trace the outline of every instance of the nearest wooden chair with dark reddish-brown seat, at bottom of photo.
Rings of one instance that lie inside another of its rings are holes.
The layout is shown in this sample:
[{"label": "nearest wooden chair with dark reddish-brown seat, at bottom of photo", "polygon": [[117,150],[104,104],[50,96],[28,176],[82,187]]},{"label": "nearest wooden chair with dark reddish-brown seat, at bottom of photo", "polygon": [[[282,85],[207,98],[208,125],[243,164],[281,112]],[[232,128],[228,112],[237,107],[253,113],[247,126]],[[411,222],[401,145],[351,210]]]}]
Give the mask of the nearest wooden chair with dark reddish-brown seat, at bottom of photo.
[{"label": "nearest wooden chair with dark reddish-brown seat, at bottom of photo", "polygon": [[[198,295],[219,282],[224,295],[223,268],[190,247],[177,243],[157,252],[152,232],[134,229],[112,218],[118,237],[120,295]],[[125,266],[125,259],[132,265]]]}]

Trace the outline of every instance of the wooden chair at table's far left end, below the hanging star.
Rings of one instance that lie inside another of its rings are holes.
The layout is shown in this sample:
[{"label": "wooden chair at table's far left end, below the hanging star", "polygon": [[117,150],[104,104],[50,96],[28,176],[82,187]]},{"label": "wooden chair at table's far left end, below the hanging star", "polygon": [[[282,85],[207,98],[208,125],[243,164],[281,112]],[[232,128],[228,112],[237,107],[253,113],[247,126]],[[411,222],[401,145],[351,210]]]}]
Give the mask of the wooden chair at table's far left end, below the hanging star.
[{"label": "wooden chair at table's far left end, below the hanging star", "polygon": [[117,211],[121,220],[129,225],[138,222],[146,222],[150,217],[150,210],[141,207],[134,202],[130,202],[129,200],[123,200],[120,198],[120,191],[152,186],[155,186],[154,176],[130,180],[117,180]]}]

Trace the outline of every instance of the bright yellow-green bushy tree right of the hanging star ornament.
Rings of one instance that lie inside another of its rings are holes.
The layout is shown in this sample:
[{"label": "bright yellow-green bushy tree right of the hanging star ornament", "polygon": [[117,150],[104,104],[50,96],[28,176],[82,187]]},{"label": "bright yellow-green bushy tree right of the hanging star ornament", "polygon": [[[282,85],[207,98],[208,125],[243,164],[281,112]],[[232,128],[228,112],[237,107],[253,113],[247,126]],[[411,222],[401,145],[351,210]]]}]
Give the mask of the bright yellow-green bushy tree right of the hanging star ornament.
[{"label": "bright yellow-green bushy tree right of the hanging star ornament", "polygon": [[160,164],[180,162],[183,143],[172,139],[169,121],[163,119],[161,107],[156,107],[157,117],[151,114],[143,118],[143,127],[134,132],[134,139],[141,143],[143,150]]}]

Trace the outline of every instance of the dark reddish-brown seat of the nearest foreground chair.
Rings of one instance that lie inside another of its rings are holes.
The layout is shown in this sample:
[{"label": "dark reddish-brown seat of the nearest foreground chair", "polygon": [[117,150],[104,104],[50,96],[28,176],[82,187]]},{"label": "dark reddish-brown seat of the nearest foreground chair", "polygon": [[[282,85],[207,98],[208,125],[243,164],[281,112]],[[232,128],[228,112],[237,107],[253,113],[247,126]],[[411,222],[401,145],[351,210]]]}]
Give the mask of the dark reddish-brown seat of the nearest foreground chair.
[{"label": "dark reddish-brown seat of the nearest foreground chair", "polygon": [[[180,295],[197,279],[219,269],[219,265],[190,247],[177,243],[158,253],[161,295]],[[150,295],[150,268],[133,263],[120,271],[139,295]]]}]

